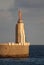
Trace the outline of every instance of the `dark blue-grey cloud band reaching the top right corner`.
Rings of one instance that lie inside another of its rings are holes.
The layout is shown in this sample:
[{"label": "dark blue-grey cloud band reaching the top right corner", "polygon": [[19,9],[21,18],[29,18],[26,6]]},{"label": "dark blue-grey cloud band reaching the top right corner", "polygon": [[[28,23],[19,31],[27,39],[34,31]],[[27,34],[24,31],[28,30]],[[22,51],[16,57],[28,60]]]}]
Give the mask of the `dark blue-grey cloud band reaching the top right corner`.
[{"label": "dark blue-grey cloud band reaching the top right corner", "polygon": [[16,0],[17,7],[44,7],[44,0]]}]

